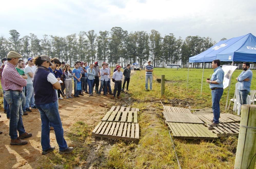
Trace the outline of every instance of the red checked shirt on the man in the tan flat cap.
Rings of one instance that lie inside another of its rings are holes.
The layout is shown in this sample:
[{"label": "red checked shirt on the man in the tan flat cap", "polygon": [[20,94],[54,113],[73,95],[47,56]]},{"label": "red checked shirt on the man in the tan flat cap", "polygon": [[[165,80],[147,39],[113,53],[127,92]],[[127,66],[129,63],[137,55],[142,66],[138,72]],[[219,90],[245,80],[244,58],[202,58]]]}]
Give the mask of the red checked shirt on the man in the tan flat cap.
[{"label": "red checked shirt on the man in the tan flat cap", "polygon": [[1,83],[3,90],[22,90],[23,86],[27,85],[27,81],[19,75],[15,66],[9,62],[4,67]]}]

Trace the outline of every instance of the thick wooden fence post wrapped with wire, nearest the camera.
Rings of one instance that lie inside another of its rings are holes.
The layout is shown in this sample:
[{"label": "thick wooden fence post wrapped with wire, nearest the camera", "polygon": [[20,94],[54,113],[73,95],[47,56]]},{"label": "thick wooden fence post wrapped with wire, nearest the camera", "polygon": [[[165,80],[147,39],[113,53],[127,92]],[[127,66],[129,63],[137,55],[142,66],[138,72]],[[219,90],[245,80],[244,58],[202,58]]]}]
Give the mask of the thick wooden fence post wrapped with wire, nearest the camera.
[{"label": "thick wooden fence post wrapped with wire, nearest the camera", "polygon": [[234,168],[254,169],[256,159],[256,105],[242,105]]}]

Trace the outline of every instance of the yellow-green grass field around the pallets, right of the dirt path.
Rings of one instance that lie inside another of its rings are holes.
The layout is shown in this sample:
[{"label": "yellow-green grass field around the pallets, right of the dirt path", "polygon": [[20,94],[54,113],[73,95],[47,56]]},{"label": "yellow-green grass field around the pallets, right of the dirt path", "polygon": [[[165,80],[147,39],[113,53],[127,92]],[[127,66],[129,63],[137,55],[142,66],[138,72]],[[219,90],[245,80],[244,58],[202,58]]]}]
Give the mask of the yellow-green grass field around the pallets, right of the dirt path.
[{"label": "yellow-green grass field around the pallets, right of the dirt path", "polygon": [[[233,97],[235,77],[242,70],[233,73],[230,98]],[[153,90],[145,91],[145,71],[136,71],[131,77],[129,94],[134,99],[131,107],[139,112],[140,142],[139,144],[117,142],[107,156],[106,168],[179,168],[172,149],[172,142],[162,116],[162,104],[177,107],[211,108],[211,90],[205,82],[213,73],[213,69],[205,69],[203,94],[200,97],[202,69],[190,69],[188,89],[187,69],[155,68]],[[256,71],[251,89],[256,89]],[[165,75],[165,95],[160,98],[160,83],[156,78]],[[124,98],[125,99],[125,98]],[[221,99],[221,112],[233,113],[232,107],[225,111],[227,88]],[[233,104],[231,105],[233,106]],[[174,139],[174,145],[182,168],[234,168],[237,137],[223,137],[216,141]]]}]

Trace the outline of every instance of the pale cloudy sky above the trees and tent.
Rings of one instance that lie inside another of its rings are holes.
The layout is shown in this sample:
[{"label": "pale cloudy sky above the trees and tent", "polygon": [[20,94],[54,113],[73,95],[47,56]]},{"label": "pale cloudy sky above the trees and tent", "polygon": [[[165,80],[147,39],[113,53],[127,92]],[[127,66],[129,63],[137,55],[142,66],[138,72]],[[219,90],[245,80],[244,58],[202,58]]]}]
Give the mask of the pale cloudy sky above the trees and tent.
[{"label": "pale cloudy sky above the trees and tent", "polygon": [[4,0],[0,35],[8,38],[15,29],[21,37],[34,33],[41,39],[43,34],[64,37],[121,27],[129,33],[155,29],[162,36],[209,36],[218,42],[247,33],[256,36],[255,7],[255,0]]}]

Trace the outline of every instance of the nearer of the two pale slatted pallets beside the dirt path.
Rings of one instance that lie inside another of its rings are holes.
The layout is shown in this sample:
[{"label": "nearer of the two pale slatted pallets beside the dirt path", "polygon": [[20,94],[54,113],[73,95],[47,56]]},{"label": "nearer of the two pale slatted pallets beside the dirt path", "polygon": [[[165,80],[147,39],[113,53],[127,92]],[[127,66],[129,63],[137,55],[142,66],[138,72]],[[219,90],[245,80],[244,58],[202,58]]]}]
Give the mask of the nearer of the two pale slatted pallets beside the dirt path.
[{"label": "nearer of the two pale slatted pallets beside the dirt path", "polygon": [[101,121],[93,130],[92,136],[137,141],[139,140],[139,124]]}]

